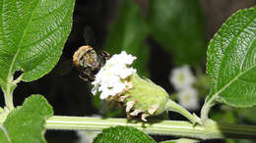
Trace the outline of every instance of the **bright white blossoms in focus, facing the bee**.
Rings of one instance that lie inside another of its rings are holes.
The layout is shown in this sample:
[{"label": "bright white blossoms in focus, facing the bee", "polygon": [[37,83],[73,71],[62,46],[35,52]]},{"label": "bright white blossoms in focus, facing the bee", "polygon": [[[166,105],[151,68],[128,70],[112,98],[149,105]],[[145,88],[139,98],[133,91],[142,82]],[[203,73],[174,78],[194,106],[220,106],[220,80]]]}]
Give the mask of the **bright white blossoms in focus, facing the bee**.
[{"label": "bright white blossoms in focus, facing the bee", "polygon": [[121,54],[113,55],[106,61],[105,65],[96,74],[95,81],[92,82],[94,88],[92,92],[101,92],[100,99],[106,99],[109,96],[115,96],[122,93],[130,86],[129,82],[125,80],[136,70],[130,68],[130,65],[136,57],[127,55],[125,51]]}]

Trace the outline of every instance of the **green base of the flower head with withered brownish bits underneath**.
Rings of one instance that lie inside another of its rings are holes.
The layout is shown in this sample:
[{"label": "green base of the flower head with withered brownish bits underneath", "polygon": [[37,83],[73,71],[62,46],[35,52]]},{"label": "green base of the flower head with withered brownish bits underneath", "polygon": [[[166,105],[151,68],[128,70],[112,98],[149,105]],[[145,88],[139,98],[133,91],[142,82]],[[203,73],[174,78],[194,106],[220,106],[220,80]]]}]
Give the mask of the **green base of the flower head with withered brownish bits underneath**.
[{"label": "green base of the flower head with withered brownish bits underneath", "polygon": [[143,120],[147,117],[158,116],[165,111],[168,94],[159,85],[150,79],[141,78],[137,73],[130,77],[133,87],[124,92],[119,98],[126,97],[126,113],[134,117],[141,115]]}]

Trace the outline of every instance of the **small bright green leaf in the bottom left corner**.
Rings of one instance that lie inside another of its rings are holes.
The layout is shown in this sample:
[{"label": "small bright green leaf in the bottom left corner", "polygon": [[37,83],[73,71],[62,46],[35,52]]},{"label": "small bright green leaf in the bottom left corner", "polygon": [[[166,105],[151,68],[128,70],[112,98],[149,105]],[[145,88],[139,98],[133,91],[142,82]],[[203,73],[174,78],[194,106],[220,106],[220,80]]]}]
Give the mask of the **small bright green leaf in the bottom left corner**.
[{"label": "small bright green leaf in the bottom left corner", "polygon": [[53,110],[41,95],[32,95],[22,107],[13,110],[0,127],[1,143],[41,143],[45,132],[45,120],[53,116]]}]

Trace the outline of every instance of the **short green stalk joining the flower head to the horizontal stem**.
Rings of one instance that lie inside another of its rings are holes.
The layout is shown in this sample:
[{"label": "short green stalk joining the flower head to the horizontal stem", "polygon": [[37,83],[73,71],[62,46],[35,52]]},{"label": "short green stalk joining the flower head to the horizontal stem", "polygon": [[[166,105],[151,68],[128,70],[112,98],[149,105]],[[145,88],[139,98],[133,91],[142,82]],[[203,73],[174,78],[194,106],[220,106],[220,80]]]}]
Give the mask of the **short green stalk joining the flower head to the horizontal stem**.
[{"label": "short green stalk joining the flower head to the horizontal stem", "polygon": [[167,101],[165,109],[181,114],[185,118],[189,119],[193,124],[202,124],[201,119],[199,119],[195,114],[190,114],[186,109],[170,99]]}]

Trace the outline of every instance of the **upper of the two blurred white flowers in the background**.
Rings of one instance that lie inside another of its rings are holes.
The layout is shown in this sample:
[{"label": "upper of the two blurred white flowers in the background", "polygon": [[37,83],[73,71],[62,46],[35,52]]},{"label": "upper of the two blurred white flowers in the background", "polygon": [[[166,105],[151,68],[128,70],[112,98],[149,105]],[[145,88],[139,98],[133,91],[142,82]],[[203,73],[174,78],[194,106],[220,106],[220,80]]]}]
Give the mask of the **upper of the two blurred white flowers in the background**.
[{"label": "upper of the two blurred white flowers in the background", "polygon": [[190,87],[196,80],[188,66],[176,68],[171,71],[169,79],[176,90]]}]

